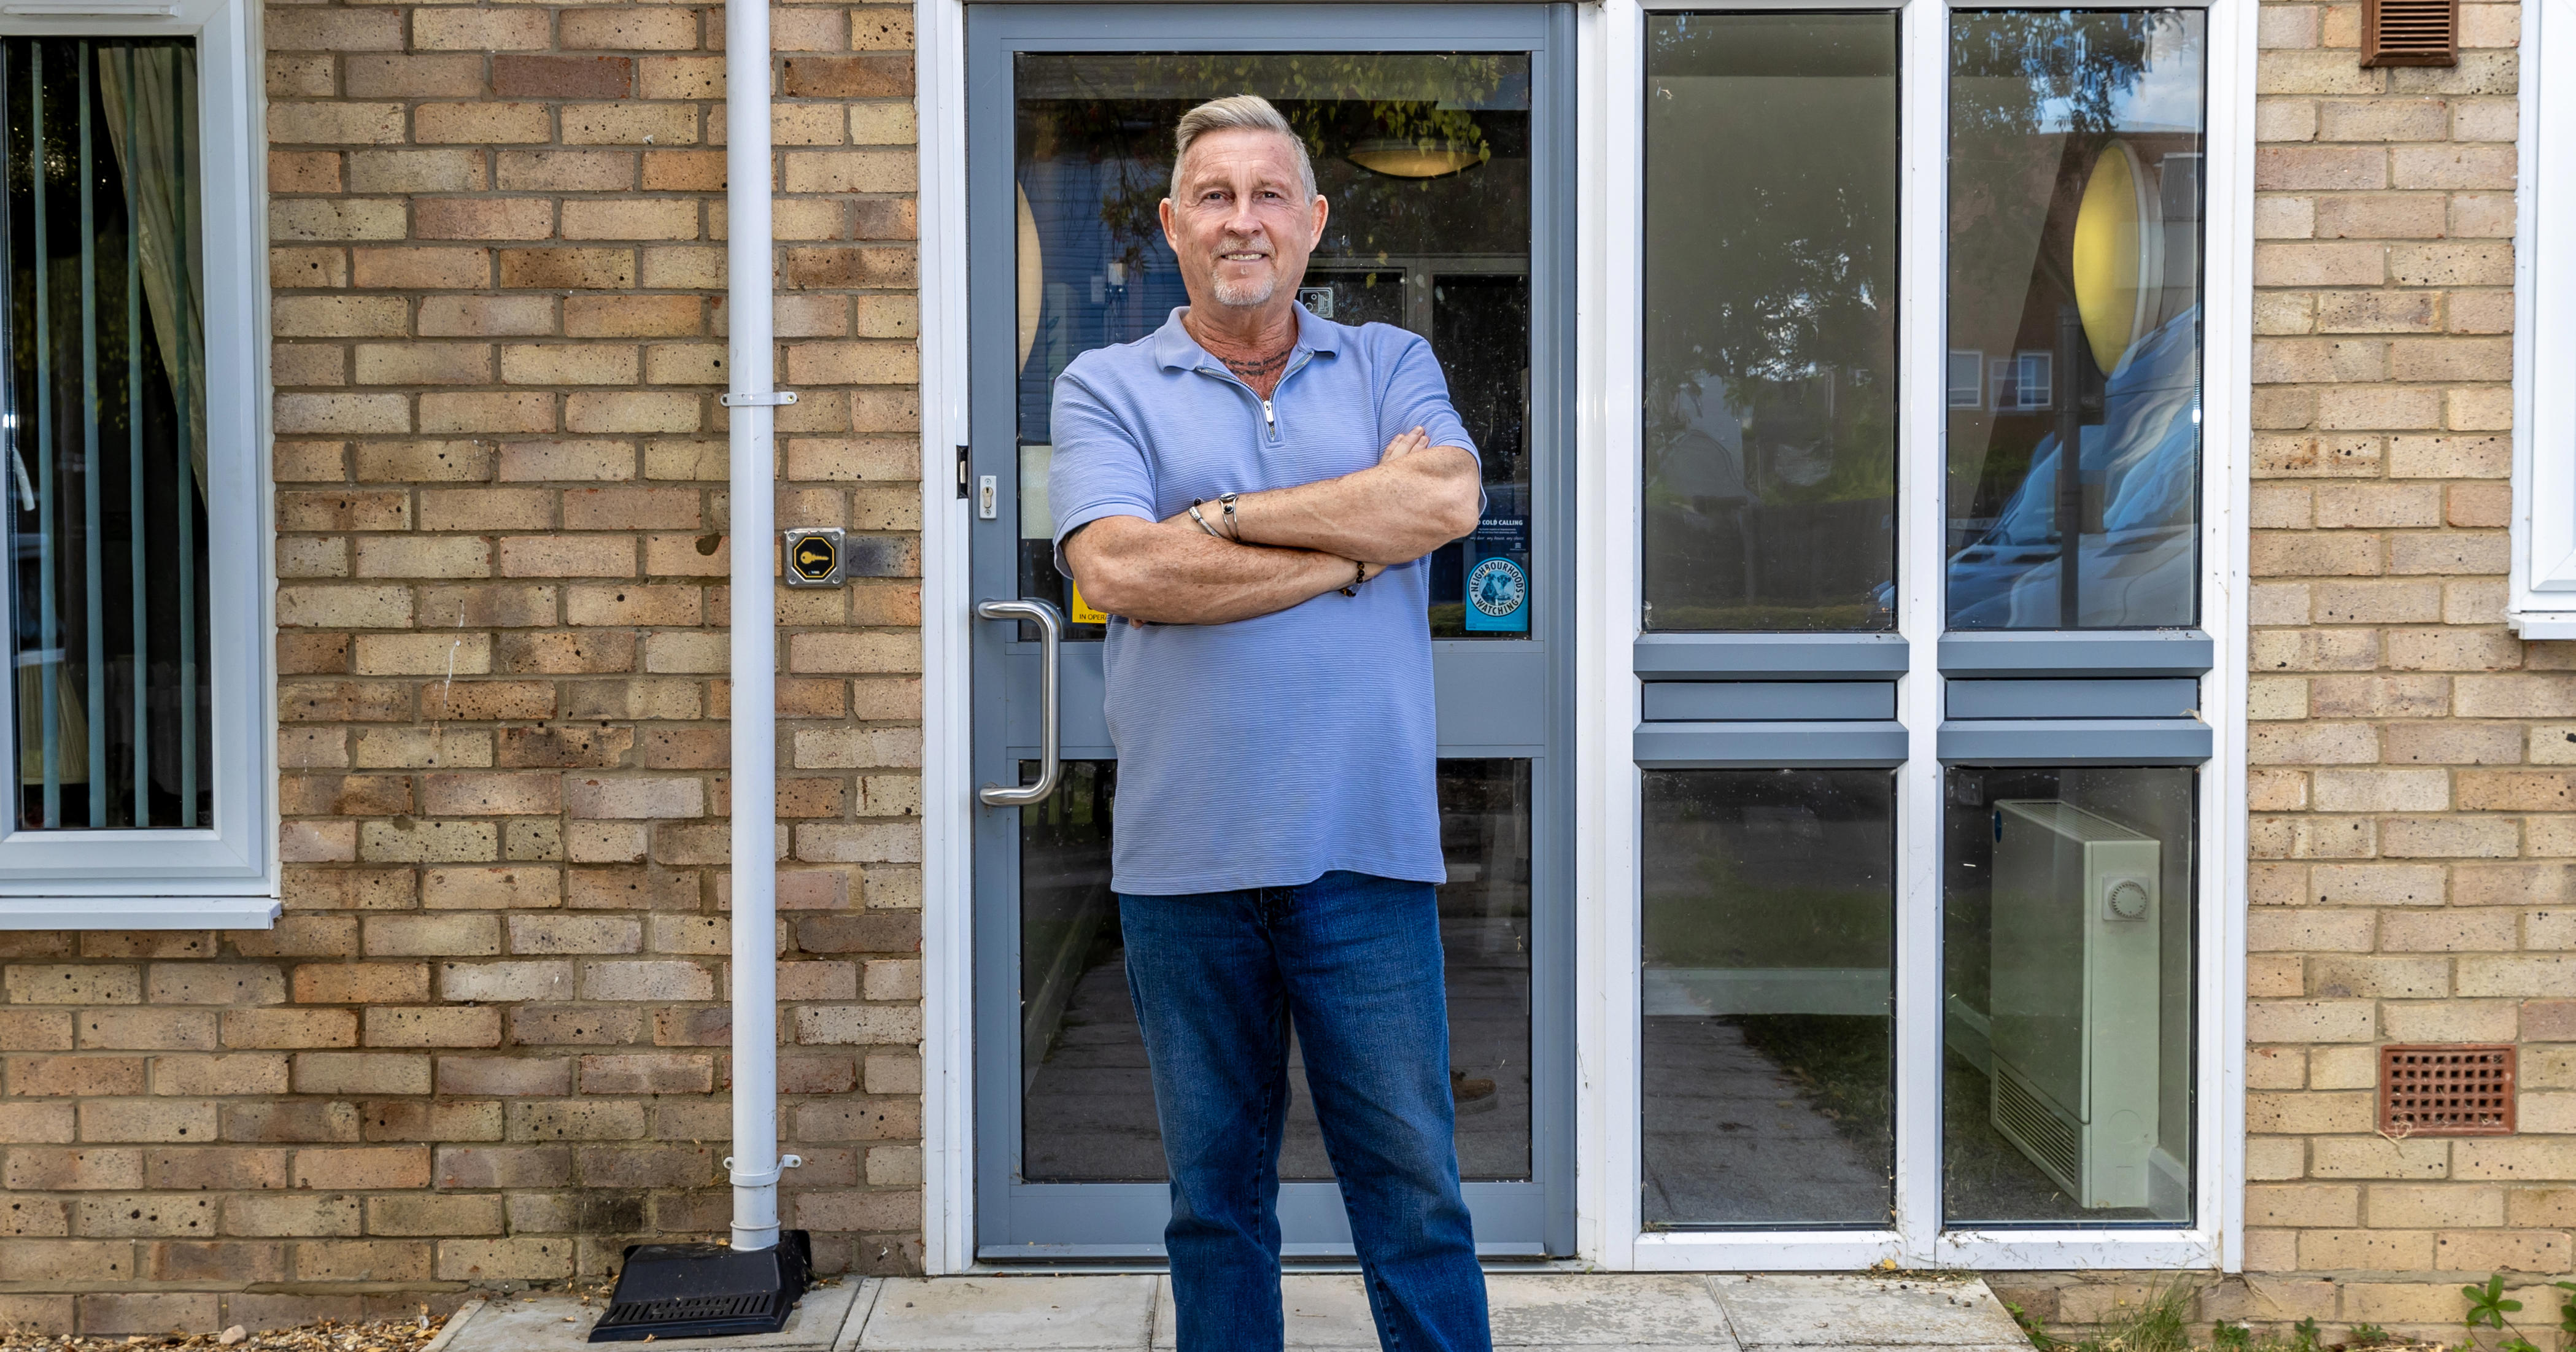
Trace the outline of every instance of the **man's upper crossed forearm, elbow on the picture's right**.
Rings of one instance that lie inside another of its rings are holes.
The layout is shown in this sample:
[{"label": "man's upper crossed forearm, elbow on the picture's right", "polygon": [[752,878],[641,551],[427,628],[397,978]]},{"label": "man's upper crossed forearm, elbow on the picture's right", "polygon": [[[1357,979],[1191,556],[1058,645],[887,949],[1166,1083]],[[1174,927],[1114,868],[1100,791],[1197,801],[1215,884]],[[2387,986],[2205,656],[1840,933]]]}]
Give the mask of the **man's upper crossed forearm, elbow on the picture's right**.
[{"label": "man's upper crossed forearm, elbow on the picture's right", "polygon": [[1370,564],[1409,564],[1476,528],[1476,456],[1430,446],[1373,469],[1236,500],[1247,543],[1316,549]]}]

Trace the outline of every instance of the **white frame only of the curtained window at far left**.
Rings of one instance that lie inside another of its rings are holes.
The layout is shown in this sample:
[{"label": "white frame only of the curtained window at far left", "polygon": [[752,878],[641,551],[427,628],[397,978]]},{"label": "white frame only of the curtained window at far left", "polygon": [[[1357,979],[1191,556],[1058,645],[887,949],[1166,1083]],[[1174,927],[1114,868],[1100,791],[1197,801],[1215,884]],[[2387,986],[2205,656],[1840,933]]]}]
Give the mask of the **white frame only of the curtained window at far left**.
[{"label": "white frame only of the curtained window at far left", "polygon": [[[276,556],[270,549],[268,155],[258,0],[21,0],[8,36],[191,36],[206,288],[204,829],[28,832],[0,822],[0,930],[242,930],[278,914]],[[0,721],[0,765],[15,765]],[[15,814],[8,814],[10,822]]]}]

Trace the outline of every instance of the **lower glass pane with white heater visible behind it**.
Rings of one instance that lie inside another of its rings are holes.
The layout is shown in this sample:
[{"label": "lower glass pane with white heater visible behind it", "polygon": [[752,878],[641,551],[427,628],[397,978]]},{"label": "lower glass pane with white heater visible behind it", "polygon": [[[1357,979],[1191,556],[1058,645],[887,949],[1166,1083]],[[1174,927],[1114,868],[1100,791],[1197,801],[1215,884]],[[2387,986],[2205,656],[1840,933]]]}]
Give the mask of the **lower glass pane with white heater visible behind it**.
[{"label": "lower glass pane with white heater visible behind it", "polygon": [[2187,1223],[2197,770],[1947,778],[1947,1221]]}]

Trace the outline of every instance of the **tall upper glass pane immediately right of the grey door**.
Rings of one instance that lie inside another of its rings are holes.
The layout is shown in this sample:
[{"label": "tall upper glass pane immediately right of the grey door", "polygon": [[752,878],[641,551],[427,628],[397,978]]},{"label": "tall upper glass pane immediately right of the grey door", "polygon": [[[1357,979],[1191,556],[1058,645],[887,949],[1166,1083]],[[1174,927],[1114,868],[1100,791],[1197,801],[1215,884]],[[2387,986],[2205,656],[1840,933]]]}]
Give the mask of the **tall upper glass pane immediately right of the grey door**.
[{"label": "tall upper glass pane immediately right of the grey door", "polygon": [[1896,628],[1896,13],[1646,18],[1646,628]]}]

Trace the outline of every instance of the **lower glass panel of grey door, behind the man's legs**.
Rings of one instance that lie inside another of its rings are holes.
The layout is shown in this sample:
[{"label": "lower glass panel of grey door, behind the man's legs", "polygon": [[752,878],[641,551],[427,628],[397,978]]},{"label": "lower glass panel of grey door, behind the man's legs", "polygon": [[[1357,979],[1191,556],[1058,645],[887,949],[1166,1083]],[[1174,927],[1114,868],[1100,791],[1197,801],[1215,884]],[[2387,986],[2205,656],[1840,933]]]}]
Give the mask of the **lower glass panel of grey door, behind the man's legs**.
[{"label": "lower glass panel of grey door, behind the man's legs", "polygon": [[[1023,775],[1036,775],[1023,765]],[[1118,762],[1077,760],[1020,809],[1020,1174],[1162,1182],[1162,1131],[1126,986],[1110,816]],[[1530,762],[1443,760],[1440,943],[1448,966],[1458,1169],[1530,1177]],[[1324,1138],[1291,1048],[1280,1177],[1327,1179]]]}]

